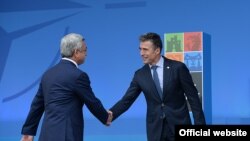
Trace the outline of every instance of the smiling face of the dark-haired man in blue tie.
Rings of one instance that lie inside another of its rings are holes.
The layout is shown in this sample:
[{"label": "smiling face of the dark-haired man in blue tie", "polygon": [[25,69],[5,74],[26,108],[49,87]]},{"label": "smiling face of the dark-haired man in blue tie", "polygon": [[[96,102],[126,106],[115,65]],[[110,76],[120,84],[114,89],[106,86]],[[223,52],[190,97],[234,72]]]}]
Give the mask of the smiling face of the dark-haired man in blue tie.
[{"label": "smiling face of the dark-haired man in blue tie", "polygon": [[144,64],[156,64],[159,56],[160,49],[155,49],[151,41],[140,42],[140,54]]}]

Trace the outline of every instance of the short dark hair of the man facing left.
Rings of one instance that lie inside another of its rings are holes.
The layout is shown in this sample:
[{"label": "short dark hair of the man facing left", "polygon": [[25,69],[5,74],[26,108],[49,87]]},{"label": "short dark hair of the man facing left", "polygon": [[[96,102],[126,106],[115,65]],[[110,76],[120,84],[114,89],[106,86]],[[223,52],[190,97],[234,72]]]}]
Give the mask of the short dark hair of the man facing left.
[{"label": "short dark hair of the man facing left", "polygon": [[141,35],[139,40],[140,42],[151,41],[155,46],[155,49],[160,48],[160,51],[162,50],[161,37],[157,33],[148,32],[146,34]]}]

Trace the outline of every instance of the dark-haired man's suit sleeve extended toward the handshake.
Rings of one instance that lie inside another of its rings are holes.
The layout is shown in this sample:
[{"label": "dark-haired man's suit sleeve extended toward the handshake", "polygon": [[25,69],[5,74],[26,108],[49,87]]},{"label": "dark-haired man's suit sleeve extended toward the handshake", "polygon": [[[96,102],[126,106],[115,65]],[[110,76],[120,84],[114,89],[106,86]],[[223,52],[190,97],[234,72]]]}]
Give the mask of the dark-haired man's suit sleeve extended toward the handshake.
[{"label": "dark-haired man's suit sleeve extended toward the handshake", "polygon": [[113,112],[113,120],[115,120],[125,111],[127,111],[129,107],[137,99],[140,93],[141,93],[141,88],[138,85],[138,81],[136,80],[136,74],[135,74],[125,95],[112,108],[110,108],[110,111]]}]

